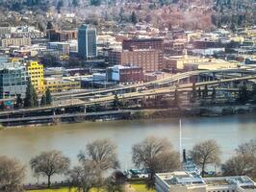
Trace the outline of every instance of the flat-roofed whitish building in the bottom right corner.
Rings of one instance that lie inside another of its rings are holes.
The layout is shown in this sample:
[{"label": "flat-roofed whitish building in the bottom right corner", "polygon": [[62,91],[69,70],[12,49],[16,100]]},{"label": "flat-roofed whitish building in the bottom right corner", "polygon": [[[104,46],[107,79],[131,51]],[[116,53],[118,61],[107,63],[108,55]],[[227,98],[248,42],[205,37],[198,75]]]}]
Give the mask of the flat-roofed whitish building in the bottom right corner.
[{"label": "flat-roofed whitish building in the bottom right corner", "polygon": [[255,192],[256,183],[246,176],[201,178],[177,171],[156,174],[157,192]]}]

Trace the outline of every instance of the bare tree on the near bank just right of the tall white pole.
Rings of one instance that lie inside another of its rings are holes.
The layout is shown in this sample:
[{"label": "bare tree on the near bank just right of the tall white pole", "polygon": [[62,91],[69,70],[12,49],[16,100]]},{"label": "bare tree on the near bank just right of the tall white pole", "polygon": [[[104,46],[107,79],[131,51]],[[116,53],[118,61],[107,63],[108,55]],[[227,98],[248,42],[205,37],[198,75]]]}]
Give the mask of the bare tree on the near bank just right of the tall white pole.
[{"label": "bare tree on the near bank just right of the tall white pole", "polygon": [[190,155],[194,163],[202,168],[202,177],[207,164],[220,162],[220,148],[215,140],[206,140],[193,146]]}]

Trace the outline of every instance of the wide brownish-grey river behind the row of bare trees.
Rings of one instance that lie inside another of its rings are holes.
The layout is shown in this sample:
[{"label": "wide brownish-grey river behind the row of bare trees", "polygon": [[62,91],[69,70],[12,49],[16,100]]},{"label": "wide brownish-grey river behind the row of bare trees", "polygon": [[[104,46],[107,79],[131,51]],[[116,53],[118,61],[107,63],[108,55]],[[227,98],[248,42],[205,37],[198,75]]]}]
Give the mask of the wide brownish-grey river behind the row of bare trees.
[{"label": "wide brownish-grey river behind the row of bare trees", "polygon": [[[5,129],[0,131],[0,155],[15,157],[27,168],[26,182],[36,182],[29,161],[42,151],[61,150],[78,163],[77,154],[94,139],[110,138],[118,147],[121,168],[132,167],[131,147],[146,136],[168,138],[179,149],[179,119],[151,119],[136,121],[84,122],[52,127]],[[214,138],[221,146],[221,159],[234,154],[244,141],[256,137],[256,118],[252,115],[183,118],[182,143],[187,150],[198,141]],[[40,179],[41,180],[41,179]]]}]

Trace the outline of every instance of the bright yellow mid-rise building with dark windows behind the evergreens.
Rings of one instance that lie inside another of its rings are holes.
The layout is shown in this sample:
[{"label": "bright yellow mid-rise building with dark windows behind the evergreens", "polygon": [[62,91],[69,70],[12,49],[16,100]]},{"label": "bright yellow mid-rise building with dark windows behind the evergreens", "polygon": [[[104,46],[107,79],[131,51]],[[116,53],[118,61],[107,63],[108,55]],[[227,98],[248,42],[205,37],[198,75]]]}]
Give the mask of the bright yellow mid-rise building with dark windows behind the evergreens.
[{"label": "bright yellow mid-rise building with dark windows behind the evergreens", "polygon": [[38,61],[29,61],[27,63],[27,71],[31,78],[31,84],[34,85],[37,92],[44,91],[43,65]]}]

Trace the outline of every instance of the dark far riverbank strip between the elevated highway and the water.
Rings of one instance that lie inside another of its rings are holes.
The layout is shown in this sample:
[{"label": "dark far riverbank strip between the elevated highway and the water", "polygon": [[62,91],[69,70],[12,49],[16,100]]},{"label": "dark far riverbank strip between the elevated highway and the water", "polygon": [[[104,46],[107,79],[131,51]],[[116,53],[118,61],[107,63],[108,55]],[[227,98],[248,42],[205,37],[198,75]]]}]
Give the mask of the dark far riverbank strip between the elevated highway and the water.
[{"label": "dark far riverbank strip between the elevated highway and the water", "polygon": [[0,129],[5,128],[24,128],[56,126],[60,124],[81,123],[84,121],[115,121],[115,120],[134,120],[134,119],[156,119],[169,117],[218,117],[223,115],[249,114],[256,113],[256,105],[237,105],[237,106],[206,106],[206,107],[177,107],[177,108],[141,108],[141,109],[118,109],[110,111],[72,113],[62,116],[51,116],[48,119],[35,118],[32,122],[14,121],[10,119],[2,123]]}]

